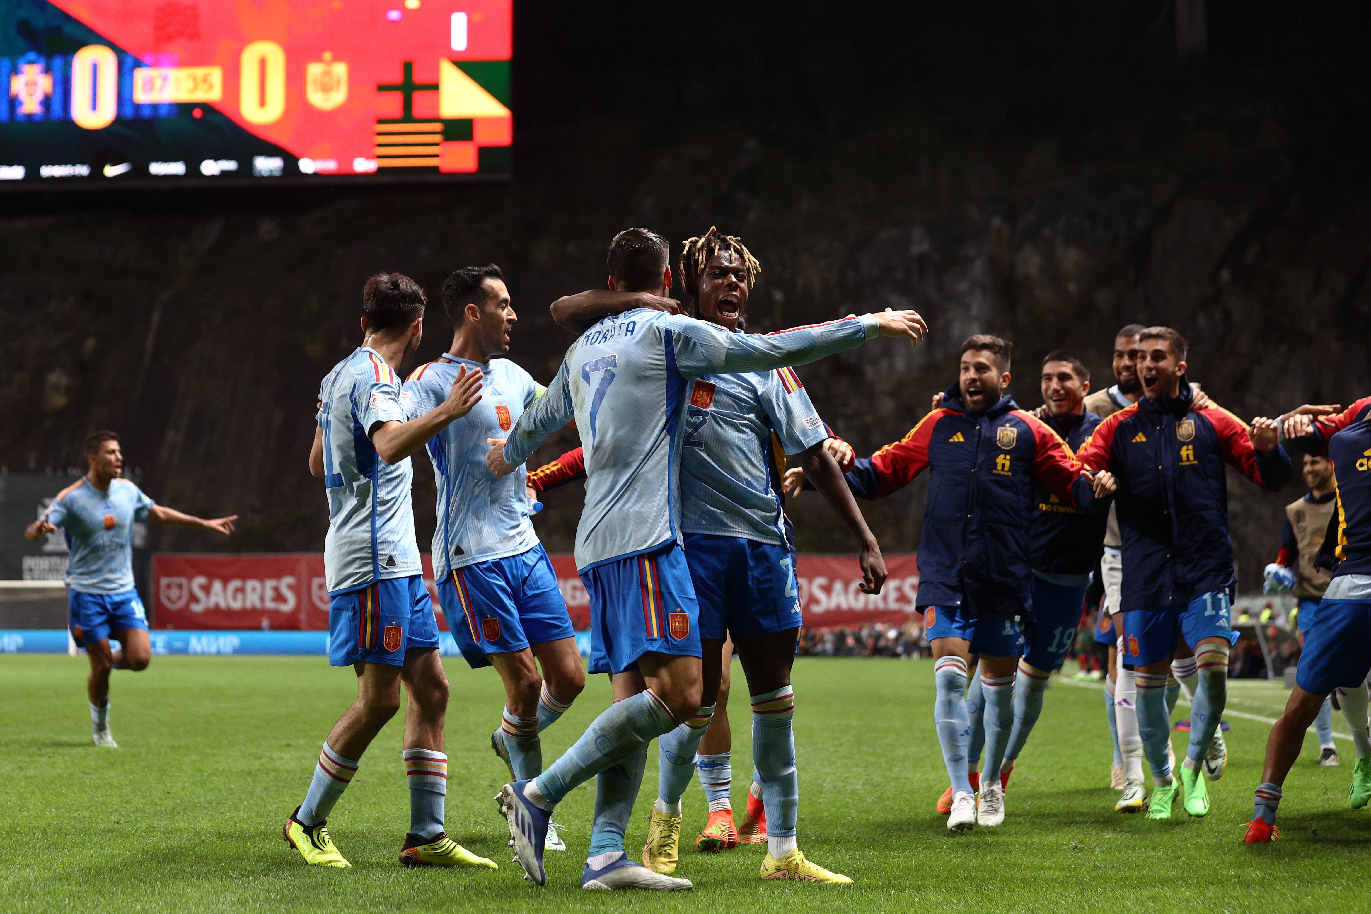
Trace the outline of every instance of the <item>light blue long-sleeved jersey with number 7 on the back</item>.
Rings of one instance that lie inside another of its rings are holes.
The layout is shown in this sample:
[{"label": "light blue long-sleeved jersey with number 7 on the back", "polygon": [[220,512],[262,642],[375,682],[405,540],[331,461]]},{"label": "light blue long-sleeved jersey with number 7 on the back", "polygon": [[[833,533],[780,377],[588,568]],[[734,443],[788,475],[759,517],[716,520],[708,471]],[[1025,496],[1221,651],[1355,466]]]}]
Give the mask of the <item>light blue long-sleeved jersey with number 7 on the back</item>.
[{"label": "light blue long-sleeved jersey with number 7 on the back", "polygon": [[610,315],[566,351],[547,393],[514,425],[505,459],[524,463],[576,419],[585,508],[576,567],[680,543],[680,454],[687,385],[705,374],[805,365],[879,334],[862,315],[755,336],[644,308]]}]

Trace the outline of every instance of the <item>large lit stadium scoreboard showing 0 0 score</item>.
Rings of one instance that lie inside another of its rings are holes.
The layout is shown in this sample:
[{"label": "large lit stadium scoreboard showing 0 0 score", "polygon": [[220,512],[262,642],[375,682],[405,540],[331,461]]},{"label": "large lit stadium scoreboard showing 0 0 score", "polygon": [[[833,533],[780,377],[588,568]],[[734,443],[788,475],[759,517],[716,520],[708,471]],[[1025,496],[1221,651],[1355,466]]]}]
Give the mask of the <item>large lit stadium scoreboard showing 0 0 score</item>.
[{"label": "large lit stadium scoreboard showing 0 0 score", "polygon": [[0,190],[500,175],[513,0],[0,0]]}]

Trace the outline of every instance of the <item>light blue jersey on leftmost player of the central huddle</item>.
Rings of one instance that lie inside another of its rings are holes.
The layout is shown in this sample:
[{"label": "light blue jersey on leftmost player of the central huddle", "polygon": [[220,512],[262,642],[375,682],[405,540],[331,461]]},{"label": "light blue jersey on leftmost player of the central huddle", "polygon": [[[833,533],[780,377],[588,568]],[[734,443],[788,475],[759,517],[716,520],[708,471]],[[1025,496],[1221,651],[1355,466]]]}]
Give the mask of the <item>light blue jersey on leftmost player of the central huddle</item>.
[{"label": "light blue jersey on leftmost player of the central huddle", "polygon": [[358,348],[333,366],[319,397],[329,496],[324,540],[329,593],[422,574],[410,493],[414,467],[409,458],[388,465],[377,456],[370,437],[377,423],[406,421],[399,380],[380,354]]}]

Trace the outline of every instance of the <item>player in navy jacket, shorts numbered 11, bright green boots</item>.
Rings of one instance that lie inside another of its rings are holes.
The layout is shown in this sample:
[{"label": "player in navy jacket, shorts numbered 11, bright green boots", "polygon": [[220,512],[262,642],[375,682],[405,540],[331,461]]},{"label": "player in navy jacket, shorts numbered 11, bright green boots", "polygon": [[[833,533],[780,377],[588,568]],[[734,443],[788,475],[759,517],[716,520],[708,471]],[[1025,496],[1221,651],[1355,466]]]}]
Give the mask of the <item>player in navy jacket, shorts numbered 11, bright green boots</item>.
[{"label": "player in navy jacket, shorts numbered 11, bright green boots", "polygon": [[1274,419],[1248,428],[1219,407],[1194,408],[1186,378],[1187,345],[1171,328],[1138,334],[1143,397],[1106,418],[1078,452],[1082,463],[1119,477],[1123,541],[1120,604],[1126,654],[1138,684],[1138,726],[1154,788],[1149,818],[1171,818],[1176,782],[1168,761],[1171,714],[1167,674],[1178,637],[1196,651],[1198,688],[1191,699],[1190,744],[1180,777],[1190,815],[1209,811],[1204,776],[1223,762],[1206,758],[1219,728],[1228,678],[1228,592],[1233,547],[1224,463],[1279,491],[1290,458]]}]

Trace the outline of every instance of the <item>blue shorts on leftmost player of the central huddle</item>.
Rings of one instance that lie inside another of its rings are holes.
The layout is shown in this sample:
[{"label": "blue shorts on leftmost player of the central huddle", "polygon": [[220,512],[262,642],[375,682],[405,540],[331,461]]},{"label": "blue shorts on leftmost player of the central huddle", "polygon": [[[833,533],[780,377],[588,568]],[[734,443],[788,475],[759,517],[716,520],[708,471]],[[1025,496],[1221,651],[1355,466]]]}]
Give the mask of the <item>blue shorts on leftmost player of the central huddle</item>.
[{"label": "blue shorts on leftmost player of the central huddle", "polygon": [[404,666],[404,652],[437,648],[437,619],[422,574],[385,578],[329,600],[329,663]]}]

